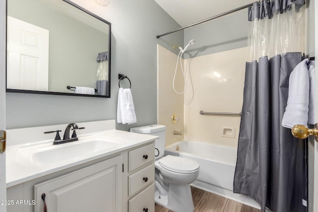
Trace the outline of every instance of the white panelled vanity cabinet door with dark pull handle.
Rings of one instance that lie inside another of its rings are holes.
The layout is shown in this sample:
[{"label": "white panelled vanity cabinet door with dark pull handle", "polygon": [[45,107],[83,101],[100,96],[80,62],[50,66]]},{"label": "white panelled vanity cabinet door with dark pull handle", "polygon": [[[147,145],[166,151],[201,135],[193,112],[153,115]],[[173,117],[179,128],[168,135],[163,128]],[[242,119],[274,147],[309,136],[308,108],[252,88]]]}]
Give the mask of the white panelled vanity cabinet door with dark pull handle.
[{"label": "white panelled vanity cabinet door with dark pull handle", "polygon": [[121,212],[122,156],[37,184],[35,212]]}]

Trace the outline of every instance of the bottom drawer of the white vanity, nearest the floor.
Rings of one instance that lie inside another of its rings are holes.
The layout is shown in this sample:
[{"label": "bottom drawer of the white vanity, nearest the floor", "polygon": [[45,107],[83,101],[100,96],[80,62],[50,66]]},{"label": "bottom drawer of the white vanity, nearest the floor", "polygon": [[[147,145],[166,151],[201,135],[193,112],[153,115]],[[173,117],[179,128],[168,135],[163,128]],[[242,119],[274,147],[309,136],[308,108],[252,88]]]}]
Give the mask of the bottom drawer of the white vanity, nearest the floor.
[{"label": "bottom drawer of the white vanity, nearest the floor", "polygon": [[[129,212],[155,212],[155,184],[129,200]],[[147,210],[148,209],[148,210]]]}]

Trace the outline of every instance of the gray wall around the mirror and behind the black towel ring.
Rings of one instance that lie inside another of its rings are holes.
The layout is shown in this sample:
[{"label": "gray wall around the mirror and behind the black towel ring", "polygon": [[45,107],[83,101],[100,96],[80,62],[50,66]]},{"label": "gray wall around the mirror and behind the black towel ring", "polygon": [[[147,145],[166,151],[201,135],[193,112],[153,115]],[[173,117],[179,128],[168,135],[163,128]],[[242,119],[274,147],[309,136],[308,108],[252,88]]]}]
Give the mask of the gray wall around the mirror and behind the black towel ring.
[{"label": "gray wall around the mirror and behind the black towel ring", "polygon": [[180,26],[154,0],[112,0],[107,7],[75,2],[91,4],[87,7],[112,24],[111,98],[7,93],[7,129],[115,119],[118,73],[132,82],[137,123],[117,129],[157,123],[157,44],[182,45],[183,32],[156,35]]}]

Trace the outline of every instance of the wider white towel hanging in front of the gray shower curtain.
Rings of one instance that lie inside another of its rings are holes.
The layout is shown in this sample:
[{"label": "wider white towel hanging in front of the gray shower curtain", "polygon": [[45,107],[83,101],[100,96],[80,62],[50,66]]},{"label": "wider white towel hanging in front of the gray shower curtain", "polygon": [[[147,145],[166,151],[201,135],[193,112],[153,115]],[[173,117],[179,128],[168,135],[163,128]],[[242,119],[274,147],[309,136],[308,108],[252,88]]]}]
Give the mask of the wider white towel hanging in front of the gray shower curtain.
[{"label": "wider white towel hanging in front of the gray shower curtain", "polygon": [[308,126],[309,74],[308,59],[299,63],[289,76],[287,107],[282,126],[292,128],[294,125]]}]

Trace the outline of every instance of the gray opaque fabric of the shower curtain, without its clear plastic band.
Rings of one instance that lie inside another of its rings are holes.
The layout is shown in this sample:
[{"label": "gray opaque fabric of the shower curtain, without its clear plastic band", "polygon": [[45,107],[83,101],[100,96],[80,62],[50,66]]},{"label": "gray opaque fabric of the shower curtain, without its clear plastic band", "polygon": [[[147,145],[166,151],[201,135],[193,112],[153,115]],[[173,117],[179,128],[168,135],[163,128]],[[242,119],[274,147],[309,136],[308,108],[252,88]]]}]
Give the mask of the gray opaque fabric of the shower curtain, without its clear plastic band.
[{"label": "gray opaque fabric of the shower curtain, without its clear plastic band", "polygon": [[[259,8],[264,4],[257,3],[249,8],[249,17],[269,18],[261,17]],[[273,9],[274,1],[269,3]],[[268,14],[285,11],[271,9]],[[265,207],[274,212],[307,212],[306,143],[281,125],[289,75],[303,55],[287,52],[246,63],[234,192],[252,197],[262,212]]]}]

